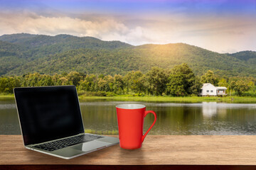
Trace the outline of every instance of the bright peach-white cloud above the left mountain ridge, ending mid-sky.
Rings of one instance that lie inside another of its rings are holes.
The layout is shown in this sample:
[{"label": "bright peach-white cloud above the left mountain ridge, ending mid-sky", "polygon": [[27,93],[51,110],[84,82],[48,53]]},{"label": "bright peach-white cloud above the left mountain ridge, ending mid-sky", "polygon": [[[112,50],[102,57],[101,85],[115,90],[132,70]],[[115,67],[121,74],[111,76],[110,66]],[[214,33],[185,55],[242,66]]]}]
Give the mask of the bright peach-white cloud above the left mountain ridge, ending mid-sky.
[{"label": "bright peach-white cloud above the left mountain ridge, ending mid-sky", "polygon": [[60,33],[102,38],[110,32],[126,33],[123,23],[107,20],[90,21],[68,16],[39,16],[36,13],[0,13],[0,33],[33,33],[56,35]]}]

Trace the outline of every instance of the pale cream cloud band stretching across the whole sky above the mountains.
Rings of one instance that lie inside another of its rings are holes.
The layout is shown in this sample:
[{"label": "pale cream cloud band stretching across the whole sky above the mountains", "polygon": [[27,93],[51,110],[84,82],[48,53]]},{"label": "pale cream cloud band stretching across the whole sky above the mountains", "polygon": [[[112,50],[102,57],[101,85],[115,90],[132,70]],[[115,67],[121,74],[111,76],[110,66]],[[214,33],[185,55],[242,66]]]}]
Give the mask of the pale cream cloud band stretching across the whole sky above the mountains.
[{"label": "pale cream cloud band stretching across the whole sky above the mountains", "polygon": [[44,15],[29,10],[0,11],[0,35],[70,34],[120,40],[132,45],[184,42],[215,52],[234,52],[234,49],[256,50],[254,20],[253,17],[190,17],[183,13],[111,16],[101,13]]}]

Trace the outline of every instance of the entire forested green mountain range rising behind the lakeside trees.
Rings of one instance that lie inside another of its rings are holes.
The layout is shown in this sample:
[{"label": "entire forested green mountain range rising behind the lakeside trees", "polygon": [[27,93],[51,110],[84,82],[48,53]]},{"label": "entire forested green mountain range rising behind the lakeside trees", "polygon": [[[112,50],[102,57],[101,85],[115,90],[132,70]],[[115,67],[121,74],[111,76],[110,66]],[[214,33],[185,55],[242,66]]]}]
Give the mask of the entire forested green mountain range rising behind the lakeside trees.
[{"label": "entire forested green mountain range rising behind the lakeside trees", "polygon": [[13,34],[0,36],[0,75],[28,72],[55,74],[126,74],[151,67],[171,69],[183,62],[197,75],[208,69],[220,76],[256,77],[256,52],[220,54],[183,43],[133,46],[73,35]]}]

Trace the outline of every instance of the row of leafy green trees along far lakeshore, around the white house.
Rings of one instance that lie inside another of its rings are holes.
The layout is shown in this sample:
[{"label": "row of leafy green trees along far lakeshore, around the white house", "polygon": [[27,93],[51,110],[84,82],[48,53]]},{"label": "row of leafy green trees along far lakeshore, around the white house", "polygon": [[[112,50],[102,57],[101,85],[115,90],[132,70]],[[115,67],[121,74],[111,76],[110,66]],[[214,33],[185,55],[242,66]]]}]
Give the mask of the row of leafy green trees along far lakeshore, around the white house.
[{"label": "row of leafy green trees along far lakeshore, around the white house", "polygon": [[125,75],[85,74],[63,72],[62,74],[39,74],[0,77],[0,94],[12,94],[14,87],[74,85],[80,96],[198,96],[203,83],[228,88],[230,96],[256,97],[256,79],[253,77],[219,77],[208,70],[196,76],[188,64],[172,69],[152,67],[149,72],[127,72]]}]

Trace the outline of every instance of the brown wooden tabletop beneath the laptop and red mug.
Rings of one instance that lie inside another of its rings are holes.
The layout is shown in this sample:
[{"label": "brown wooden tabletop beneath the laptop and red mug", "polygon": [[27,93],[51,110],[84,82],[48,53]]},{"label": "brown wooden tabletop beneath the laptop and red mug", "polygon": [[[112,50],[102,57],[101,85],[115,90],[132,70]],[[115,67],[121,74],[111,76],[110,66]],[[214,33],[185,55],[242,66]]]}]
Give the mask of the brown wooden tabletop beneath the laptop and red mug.
[{"label": "brown wooden tabletop beneath the laptop and red mug", "polygon": [[141,149],[115,145],[70,160],[0,135],[0,169],[256,169],[256,136],[149,135]]}]

